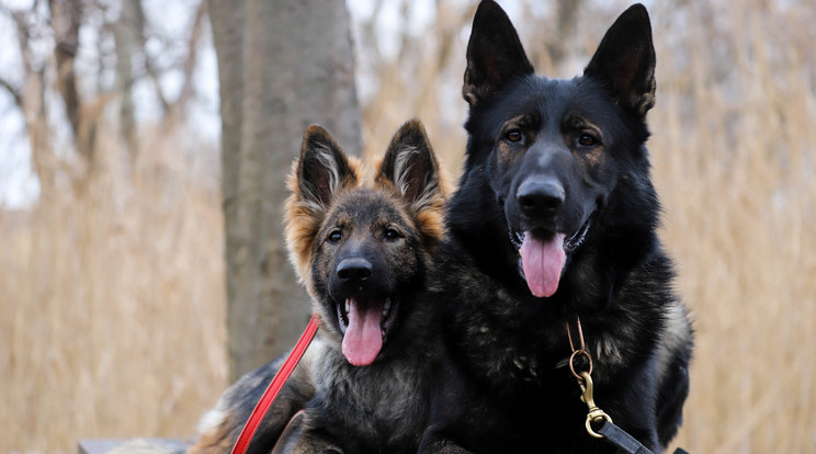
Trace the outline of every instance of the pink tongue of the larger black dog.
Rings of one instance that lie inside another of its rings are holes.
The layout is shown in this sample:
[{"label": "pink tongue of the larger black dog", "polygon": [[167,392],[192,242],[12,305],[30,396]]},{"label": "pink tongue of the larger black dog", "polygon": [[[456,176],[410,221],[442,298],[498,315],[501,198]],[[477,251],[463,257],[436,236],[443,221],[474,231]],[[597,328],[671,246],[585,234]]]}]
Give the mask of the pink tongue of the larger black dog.
[{"label": "pink tongue of the larger black dog", "polygon": [[526,231],[520,252],[521,268],[530,292],[540,298],[553,296],[558,290],[567,257],[564,252],[564,234],[555,234],[553,238],[542,241]]}]

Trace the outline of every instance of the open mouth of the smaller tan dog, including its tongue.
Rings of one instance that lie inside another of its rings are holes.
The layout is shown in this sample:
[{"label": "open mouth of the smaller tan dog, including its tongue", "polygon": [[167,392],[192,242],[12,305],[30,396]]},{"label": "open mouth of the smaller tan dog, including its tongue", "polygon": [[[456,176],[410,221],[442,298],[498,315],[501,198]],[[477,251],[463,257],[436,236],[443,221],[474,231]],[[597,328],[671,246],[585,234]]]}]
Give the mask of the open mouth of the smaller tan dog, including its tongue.
[{"label": "open mouth of the smaller tan dog, including its tongue", "polygon": [[342,351],[349,363],[362,366],[376,360],[396,320],[398,303],[390,297],[352,295],[336,305],[343,333]]}]

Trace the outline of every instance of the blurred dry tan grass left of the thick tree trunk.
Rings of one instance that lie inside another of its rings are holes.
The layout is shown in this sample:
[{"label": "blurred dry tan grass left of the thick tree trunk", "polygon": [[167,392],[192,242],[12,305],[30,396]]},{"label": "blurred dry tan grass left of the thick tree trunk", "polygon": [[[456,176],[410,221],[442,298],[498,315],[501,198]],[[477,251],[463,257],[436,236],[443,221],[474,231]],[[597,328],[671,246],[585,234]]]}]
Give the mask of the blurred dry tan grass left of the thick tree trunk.
[{"label": "blurred dry tan grass left of the thick tree trunk", "polygon": [[82,195],[0,212],[0,452],[189,435],[224,387],[218,184],[180,140]]}]

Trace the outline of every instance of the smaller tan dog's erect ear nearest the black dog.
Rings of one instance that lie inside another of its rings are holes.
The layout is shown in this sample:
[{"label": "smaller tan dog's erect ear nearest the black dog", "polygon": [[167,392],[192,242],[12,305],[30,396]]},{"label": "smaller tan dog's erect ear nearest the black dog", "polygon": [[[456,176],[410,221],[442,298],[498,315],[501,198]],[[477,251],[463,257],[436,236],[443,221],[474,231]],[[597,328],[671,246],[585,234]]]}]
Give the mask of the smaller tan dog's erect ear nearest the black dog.
[{"label": "smaller tan dog's erect ear nearest the black dog", "polygon": [[390,182],[417,211],[441,194],[439,162],[422,122],[411,120],[399,127],[385,151],[375,178]]}]

